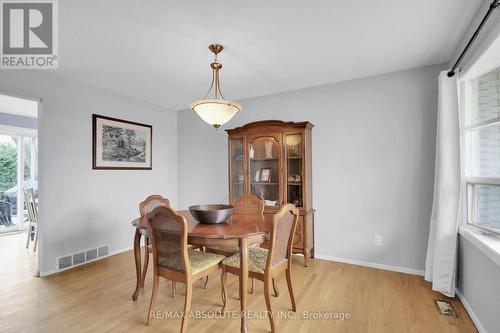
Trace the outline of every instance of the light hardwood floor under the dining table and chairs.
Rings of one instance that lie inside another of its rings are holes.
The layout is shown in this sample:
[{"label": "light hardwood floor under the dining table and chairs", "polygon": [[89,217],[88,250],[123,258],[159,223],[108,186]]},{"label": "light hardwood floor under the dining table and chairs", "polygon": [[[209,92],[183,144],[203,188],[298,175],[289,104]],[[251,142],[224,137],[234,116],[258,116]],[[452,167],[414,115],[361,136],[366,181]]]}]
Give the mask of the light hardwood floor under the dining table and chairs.
[{"label": "light hardwood floor under the dining table and chairs", "polygon": [[[32,278],[16,271],[12,258],[8,264],[5,262],[9,253],[5,246],[6,242],[0,237],[1,332],[180,331],[181,320],[175,318],[156,319],[151,326],[145,326],[151,274],[148,272],[145,291],[137,302],[132,302],[135,271],[131,251],[54,276]],[[28,255],[18,250],[12,253],[21,262]],[[459,318],[438,314],[433,298],[446,298],[433,292],[420,276],[317,259],[310,261],[309,268],[304,268],[302,260],[301,256],[294,257],[293,264],[297,319],[277,318],[278,332],[476,332],[456,298],[451,301]],[[7,265],[14,265],[11,274],[7,273]],[[237,278],[229,275],[229,314],[239,309],[237,283]],[[277,284],[280,295],[272,297],[273,310],[289,311],[291,305],[284,277],[280,277]],[[180,311],[183,290],[179,284],[177,296],[172,298],[169,282],[161,279],[156,310]],[[195,284],[194,313],[219,311],[221,304],[219,274],[211,276],[207,290],[202,289],[201,281]],[[248,308],[256,311],[252,315],[263,314],[266,309],[259,281],[254,294],[248,296]],[[305,311],[344,312],[351,318],[306,320]],[[188,331],[239,332],[239,328],[238,318],[191,319]],[[248,329],[269,332],[269,322],[266,318],[249,319]]]}]

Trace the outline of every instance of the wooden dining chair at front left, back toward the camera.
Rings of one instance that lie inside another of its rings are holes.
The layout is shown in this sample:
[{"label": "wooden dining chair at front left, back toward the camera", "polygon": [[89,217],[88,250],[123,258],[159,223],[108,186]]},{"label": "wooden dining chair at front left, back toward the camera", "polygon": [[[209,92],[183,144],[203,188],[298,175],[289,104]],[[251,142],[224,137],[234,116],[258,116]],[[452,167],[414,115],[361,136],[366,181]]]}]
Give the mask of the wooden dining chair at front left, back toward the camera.
[{"label": "wooden dining chair at front left, back toward the camera", "polygon": [[159,277],[186,284],[186,300],[181,333],[186,332],[193,295],[193,283],[221,269],[224,256],[188,250],[186,218],[170,207],[160,206],[147,214],[144,222],[153,249],[153,291],[149,304],[149,325],[158,294]]}]

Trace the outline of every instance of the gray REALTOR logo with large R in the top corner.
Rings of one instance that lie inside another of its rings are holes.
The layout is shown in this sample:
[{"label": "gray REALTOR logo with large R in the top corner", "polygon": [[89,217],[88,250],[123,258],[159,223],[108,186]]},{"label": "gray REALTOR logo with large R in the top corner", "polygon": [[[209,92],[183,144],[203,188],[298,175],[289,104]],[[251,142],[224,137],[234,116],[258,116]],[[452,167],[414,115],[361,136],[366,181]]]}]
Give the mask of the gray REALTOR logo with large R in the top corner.
[{"label": "gray REALTOR logo with large R in the top corner", "polygon": [[0,0],[0,67],[55,69],[58,65],[56,0]]}]

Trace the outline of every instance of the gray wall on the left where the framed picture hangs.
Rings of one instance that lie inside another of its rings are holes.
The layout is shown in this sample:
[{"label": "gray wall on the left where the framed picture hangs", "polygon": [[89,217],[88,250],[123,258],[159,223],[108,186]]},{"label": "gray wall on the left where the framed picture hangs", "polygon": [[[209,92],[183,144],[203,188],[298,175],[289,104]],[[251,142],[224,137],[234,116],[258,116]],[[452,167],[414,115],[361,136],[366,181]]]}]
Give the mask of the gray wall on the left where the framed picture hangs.
[{"label": "gray wall on the left where the framed picture hangs", "polygon": [[[177,202],[177,114],[46,71],[0,71],[0,91],[42,99],[39,115],[39,268],[58,256],[109,244],[132,246],[138,202]],[[152,171],[92,170],[92,113],[153,125]]]}]

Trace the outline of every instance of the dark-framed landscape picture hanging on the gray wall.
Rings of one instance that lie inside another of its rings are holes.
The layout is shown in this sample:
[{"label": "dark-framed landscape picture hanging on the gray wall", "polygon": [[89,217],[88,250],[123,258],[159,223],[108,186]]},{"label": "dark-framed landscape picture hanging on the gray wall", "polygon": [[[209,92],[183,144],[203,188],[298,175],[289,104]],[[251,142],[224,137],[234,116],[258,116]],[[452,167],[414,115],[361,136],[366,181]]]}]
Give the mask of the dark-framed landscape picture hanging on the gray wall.
[{"label": "dark-framed landscape picture hanging on the gray wall", "polygon": [[151,170],[153,127],[92,115],[92,169]]}]

